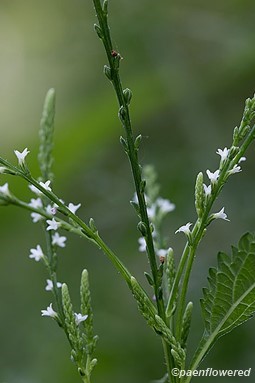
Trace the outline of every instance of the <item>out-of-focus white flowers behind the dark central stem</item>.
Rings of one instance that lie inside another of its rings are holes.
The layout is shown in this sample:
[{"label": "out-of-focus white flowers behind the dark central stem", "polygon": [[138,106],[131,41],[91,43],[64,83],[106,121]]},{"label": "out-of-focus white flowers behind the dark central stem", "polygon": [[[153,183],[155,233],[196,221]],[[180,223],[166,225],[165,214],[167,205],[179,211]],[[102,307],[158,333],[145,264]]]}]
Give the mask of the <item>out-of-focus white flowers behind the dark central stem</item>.
[{"label": "out-of-focus white flowers behind the dark central stem", "polygon": [[[133,201],[135,203],[138,202],[136,193],[134,195]],[[173,211],[175,209],[175,205],[172,202],[170,202],[168,199],[165,199],[162,197],[158,197],[154,202],[151,202],[150,198],[147,195],[145,195],[145,201],[147,204],[148,217],[154,226],[154,231],[152,233],[152,236],[155,239],[154,242],[155,242],[156,255],[159,258],[165,258],[168,253],[168,249],[159,248],[157,246],[158,233],[157,233],[157,230],[155,229],[157,226],[156,222],[161,221],[166,214]],[[144,237],[140,237],[138,239],[138,244],[139,244],[139,251],[146,252],[146,241]]]}]

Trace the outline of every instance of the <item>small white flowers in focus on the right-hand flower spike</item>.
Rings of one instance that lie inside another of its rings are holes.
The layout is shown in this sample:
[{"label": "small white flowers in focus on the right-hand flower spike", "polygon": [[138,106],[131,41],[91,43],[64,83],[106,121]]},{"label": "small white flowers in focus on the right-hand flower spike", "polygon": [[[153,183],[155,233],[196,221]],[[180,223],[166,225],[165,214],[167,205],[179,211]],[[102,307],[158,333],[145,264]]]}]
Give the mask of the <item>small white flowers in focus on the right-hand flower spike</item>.
[{"label": "small white flowers in focus on the right-hand flower spike", "polygon": [[[230,153],[230,149],[227,149],[227,148],[218,149],[216,151],[216,154],[220,156],[220,169],[222,165],[224,164],[224,162],[226,161],[226,159],[228,158],[229,153]],[[245,160],[246,160],[245,157],[241,157],[239,160],[239,163]],[[203,184],[206,198],[210,197],[210,195],[212,194],[213,187],[217,184],[217,181],[220,177],[220,169],[217,169],[215,172],[211,172],[209,169],[206,170],[206,174],[210,181],[210,184],[208,186],[206,184]],[[234,165],[234,167],[228,171],[227,175],[229,176],[231,174],[240,173],[241,171],[242,171],[241,166]],[[210,221],[212,221],[213,219],[223,219],[225,221],[229,221],[229,219],[227,218],[227,214],[224,212],[224,209],[225,208],[223,207],[218,213],[212,214],[210,217]],[[186,236],[189,237],[191,234],[191,231],[190,231],[191,225],[192,223],[188,222],[186,225],[183,225],[179,229],[177,229],[175,234],[184,233]]]}]

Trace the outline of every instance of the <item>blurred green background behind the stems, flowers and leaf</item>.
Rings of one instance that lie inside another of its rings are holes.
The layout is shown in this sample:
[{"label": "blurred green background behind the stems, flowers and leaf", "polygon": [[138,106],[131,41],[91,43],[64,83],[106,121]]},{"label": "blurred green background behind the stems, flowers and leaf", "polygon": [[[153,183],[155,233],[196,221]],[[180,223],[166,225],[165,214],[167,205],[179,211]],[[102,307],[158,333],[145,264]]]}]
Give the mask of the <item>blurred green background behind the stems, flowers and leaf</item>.
[{"label": "blurred green background behind the stems, flowers and leaf", "polygon": [[[162,196],[177,206],[166,220],[177,257],[184,238],[173,233],[195,220],[195,177],[200,170],[217,168],[215,151],[230,144],[244,100],[254,93],[254,15],[253,0],[110,2],[114,44],[124,58],[123,83],[134,94],[134,130],[144,138],[141,162],[155,164]],[[47,89],[55,87],[54,190],[65,201],[82,203],[80,216],[86,221],[93,216],[106,242],[146,285],[147,260],[137,250],[137,221],[129,205],[134,190],[119,145],[123,132],[114,93],[102,73],[106,59],[94,22],[88,0],[0,2],[1,155],[15,162],[13,150],[28,147],[29,165],[39,175],[41,108]],[[219,250],[229,251],[243,232],[255,229],[254,146],[247,157],[243,172],[231,178],[215,207],[225,206],[231,222],[215,222],[199,248],[189,292],[196,302],[190,349],[201,335],[198,300],[208,267],[216,264]],[[21,180],[8,181],[17,195],[31,198]],[[52,297],[44,290],[42,265],[28,258],[38,243],[43,244],[40,227],[26,212],[1,208],[0,382],[78,383],[64,335],[40,316]],[[93,382],[146,383],[162,376],[160,340],[145,327],[108,260],[71,236],[60,253],[60,280],[69,284],[77,305],[81,270],[90,272],[100,337]],[[201,368],[253,367],[253,328],[254,320],[220,340]]]}]

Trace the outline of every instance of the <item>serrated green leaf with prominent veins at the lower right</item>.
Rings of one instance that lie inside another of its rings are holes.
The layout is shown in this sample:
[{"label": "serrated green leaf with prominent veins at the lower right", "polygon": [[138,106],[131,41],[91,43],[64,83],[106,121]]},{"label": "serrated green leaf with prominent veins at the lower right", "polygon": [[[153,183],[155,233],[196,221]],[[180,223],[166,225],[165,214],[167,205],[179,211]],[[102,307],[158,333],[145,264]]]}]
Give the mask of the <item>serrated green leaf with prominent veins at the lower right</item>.
[{"label": "serrated green leaf with prominent veins at the lower right", "polygon": [[[205,332],[194,356],[195,369],[216,340],[255,313],[255,237],[245,234],[232,257],[219,253],[218,268],[210,269],[209,287],[201,300]],[[187,380],[188,382],[188,380]]]}]

